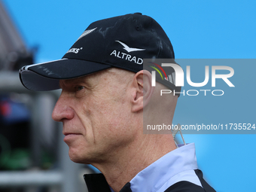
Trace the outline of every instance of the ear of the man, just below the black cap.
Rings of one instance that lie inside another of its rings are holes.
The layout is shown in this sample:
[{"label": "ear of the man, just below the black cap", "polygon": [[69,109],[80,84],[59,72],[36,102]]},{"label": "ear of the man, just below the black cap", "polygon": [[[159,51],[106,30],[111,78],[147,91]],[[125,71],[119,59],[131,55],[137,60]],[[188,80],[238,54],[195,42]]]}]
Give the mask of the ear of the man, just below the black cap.
[{"label": "ear of the man, just below the black cap", "polygon": [[133,77],[133,108],[132,111],[140,111],[151,99],[154,87],[151,86],[151,73],[142,70]]}]

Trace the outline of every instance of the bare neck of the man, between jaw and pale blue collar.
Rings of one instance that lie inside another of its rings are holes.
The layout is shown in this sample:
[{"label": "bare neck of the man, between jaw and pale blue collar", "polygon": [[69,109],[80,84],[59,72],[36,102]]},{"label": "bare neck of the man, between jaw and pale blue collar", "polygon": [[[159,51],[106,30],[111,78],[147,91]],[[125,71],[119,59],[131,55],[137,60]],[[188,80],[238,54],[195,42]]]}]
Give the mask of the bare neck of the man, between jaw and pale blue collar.
[{"label": "bare neck of the man, between jaw and pale blue collar", "polygon": [[[117,151],[111,160],[94,163],[105,175],[108,184],[117,192],[142,169],[174,150],[172,135],[145,135],[145,138]],[[139,146],[139,147],[138,147]]]}]

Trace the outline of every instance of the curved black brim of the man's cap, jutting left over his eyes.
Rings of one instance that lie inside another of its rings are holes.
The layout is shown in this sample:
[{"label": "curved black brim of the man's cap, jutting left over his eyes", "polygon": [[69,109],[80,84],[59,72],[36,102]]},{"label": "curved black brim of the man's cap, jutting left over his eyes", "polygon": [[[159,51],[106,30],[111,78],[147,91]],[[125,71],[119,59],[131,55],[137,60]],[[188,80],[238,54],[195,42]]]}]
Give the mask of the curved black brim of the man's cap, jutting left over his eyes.
[{"label": "curved black brim of the man's cap, jutting left over his eyes", "polygon": [[80,59],[59,59],[20,69],[20,81],[29,90],[46,91],[59,89],[59,80],[79,78],[99,72],[111,66]]}]

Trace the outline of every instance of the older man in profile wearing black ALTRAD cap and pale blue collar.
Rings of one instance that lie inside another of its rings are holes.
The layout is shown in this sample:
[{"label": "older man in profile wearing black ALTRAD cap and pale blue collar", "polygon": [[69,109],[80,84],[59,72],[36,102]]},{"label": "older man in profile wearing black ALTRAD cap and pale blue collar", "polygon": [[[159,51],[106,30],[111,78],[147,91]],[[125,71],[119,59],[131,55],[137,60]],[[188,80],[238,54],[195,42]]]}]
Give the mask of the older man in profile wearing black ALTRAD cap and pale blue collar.
[{"label": "older man in profile wearing black ALTRAD cap and pale blue collar", "polygon": [[178,95],[160,90],[180,91],[173,71],[152,86],[145,58],[153,68],[174,59],[172,44],[151,17],[127,14],[90,24],[62,59],[24,66],[20,80],[29,90],[62,89],[52,117],[63,123],[69,157],[102,172],[84,175],[89,191],[215,191],[194,144],[143,133],[145,122],[172,124]]}]

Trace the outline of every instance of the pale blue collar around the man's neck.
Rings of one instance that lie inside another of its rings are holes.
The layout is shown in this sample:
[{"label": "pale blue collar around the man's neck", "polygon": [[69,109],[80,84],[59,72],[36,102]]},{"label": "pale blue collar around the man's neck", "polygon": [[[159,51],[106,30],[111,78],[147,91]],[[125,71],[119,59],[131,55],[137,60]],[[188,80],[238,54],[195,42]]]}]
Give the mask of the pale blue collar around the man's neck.
[{"label": "pale blue collar around the man's neck", "polygon": [[197,169],[197,157],[195,145],[191,143],[169,152],[139,172],[130,181],[131,190],[133,192],[157,191],[162,189],[166,182],[168,182],[166,186],[177,182],[175,175],[194,169]]}]

